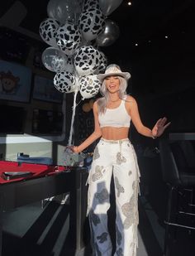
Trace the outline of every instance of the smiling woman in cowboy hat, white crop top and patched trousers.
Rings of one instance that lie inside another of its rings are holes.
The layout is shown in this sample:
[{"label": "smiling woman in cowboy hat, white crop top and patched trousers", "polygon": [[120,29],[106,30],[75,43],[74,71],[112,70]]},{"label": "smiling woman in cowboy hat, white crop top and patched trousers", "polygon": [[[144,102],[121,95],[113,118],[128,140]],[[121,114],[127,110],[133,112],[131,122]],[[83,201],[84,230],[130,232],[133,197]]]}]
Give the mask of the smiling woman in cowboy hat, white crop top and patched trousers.
[{"label": "smiling woman in cowboy hat, white crop top and patched trousers", "polygon": [[112,242],[107,230],[107,210],[110,207],[110,183],[113,174],[116,195],[116,252],[115,256],[136,256],[139,192],[139,167],[136,153],[128,139],[130,123],[138,133],[157,138],[169,126],[159,118],[152,130],[143,125],[136,99],[126,95],[130,73],[118,65],[107,66],[102,81],[103,97],[93,104],[94,132],[74,152],[82,152],[101,138],[93,153],[88,177],[88,218],[93,255],[111,256]]}]

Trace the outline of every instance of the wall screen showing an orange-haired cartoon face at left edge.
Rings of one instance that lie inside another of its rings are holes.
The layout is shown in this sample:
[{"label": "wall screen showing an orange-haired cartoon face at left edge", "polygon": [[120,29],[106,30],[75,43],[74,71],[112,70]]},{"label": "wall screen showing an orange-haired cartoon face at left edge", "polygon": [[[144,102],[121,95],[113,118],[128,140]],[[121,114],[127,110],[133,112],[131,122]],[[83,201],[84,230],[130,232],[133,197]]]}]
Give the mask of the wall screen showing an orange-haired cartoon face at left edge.
[{"label": "wall screen showing an orange-haired cartoon face at left edge", "polygon": [[0,60],[0,99],[29,102],[31,69],[6,60]]}]

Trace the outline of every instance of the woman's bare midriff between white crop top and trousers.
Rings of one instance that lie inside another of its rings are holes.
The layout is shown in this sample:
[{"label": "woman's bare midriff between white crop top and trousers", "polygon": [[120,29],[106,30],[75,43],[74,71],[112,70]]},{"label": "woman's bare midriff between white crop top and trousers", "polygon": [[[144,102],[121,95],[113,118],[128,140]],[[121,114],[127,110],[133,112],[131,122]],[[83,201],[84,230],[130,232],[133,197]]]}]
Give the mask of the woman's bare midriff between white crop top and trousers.
[{"label": "woman's bare midriff between white crop top and trousers", "polygon": [[128,127],[102,127],[102,138],[107,140],[120,140],[123,138],[128,138],[129,128]]}]

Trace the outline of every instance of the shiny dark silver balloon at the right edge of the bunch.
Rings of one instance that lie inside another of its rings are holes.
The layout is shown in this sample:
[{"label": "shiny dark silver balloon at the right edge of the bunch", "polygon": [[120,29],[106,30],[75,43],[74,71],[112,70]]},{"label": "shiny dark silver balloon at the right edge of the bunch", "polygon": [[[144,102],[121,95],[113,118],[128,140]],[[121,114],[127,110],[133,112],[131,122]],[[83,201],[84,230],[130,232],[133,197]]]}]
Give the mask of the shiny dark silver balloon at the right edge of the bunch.
[{"label": "shiny dark silver balloon at the right edge of the bunch", "polygon": [[97,36],[96,42],[98,46],[111,46],[120,35],[120,30],[116,22],[107,19],[104,31]]}]

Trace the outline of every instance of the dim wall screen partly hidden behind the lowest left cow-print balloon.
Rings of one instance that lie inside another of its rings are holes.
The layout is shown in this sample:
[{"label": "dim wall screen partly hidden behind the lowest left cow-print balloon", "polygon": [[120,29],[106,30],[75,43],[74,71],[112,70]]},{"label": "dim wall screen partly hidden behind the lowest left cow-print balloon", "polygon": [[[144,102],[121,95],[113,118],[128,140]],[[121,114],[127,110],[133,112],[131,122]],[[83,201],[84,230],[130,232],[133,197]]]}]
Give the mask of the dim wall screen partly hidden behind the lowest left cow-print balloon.
[{"label": "dim wall screen partly hidden behind the lowest left cow-print balloon", "polygon": [[55,88],[53,80],[35,75],[33,99],[62,103],[63,94]]}]

